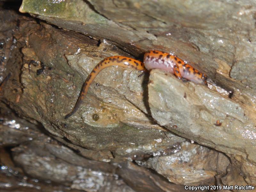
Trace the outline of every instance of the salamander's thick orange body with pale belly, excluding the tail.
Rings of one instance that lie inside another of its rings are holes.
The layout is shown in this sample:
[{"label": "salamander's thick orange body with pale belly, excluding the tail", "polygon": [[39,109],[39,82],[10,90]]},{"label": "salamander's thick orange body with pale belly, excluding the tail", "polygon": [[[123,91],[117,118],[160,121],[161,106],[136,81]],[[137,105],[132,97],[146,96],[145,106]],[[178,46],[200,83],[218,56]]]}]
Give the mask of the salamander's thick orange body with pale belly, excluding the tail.
[{"label": "salamander's thick orange body with pale belly, excluding the tail", "polygon": [[144,55],[144,65],[148,70],[164,69],[174,74],[178,79],[184,78],[198,84],[207,85],[206,75],[188,65],[177,56],[169,53],[150,50]]}]

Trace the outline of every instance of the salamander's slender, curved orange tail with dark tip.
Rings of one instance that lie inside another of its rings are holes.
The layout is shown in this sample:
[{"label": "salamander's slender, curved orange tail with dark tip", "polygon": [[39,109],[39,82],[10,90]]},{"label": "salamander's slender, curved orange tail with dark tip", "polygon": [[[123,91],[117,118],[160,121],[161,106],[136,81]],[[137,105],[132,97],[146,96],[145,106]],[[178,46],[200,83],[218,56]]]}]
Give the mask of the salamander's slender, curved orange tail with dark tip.
[{"label": "salamander's slender, curved orange tail with dark tip", "polygon": [[88,92],[88,89],[90,87],[90,84],[92,83],[93,79],[97,76],[97,74],[104,68],[112,66],[112,65],[117,65],[125,68],[134,68],[137,70],[146,70],[144,67],[144,63],[129,57],[123,57],[123,56],[112,56],[108,57],[102,61],[100,61],[92,70],[90,75],[87,77],[87,79],[84,82],[82,91],[80,93],[80,96],[76,102],[75,107],[72,109],[72,111],[65,116],[65,119],[68,117],[72,116],[76,110],[79,108],[81,103],[84,100],[84,97],[86,96],[86,93]]}]

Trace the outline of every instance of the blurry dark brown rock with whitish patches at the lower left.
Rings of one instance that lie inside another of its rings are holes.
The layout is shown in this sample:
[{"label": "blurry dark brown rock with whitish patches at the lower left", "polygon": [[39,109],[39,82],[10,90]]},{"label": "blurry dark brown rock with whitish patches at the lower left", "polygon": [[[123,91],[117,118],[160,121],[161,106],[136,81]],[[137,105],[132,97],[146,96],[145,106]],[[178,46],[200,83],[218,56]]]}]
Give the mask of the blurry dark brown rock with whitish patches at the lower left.
[{"label": "blurry dark brown rock with whitish patches at the lower left", "polygon": [[[111,173],[115,169],[111,164],[87,160],[45,136],[12,151],[14,162],[31,177],[70,185],[73,189],[99,191],[118,180]],[[116,184],[129,189],[121,180]]]}]

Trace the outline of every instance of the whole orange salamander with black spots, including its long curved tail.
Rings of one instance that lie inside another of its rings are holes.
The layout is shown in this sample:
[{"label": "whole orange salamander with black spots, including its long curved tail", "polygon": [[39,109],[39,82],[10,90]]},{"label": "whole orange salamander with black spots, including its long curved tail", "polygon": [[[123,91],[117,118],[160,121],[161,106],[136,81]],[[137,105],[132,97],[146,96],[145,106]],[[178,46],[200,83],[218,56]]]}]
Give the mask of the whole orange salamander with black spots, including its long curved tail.
[{"label": "whole orange salamander with black spots, including its long curved tail", "polygon": [[151,69],[164,69],[174,74],[178,79],[182,77],[199,84],[207,84],[206,76],[200,73],[192,66],[186,64],[183,60],[169,53],[162,51],[150,50],[144,55],[144,63],[141,61],[122,56],[112,56],[100,61],[92,70],[90,75],[84,82],[80,96],[76,102],[75,107],[72,111],[65,116],[65,119],[72,116],[83,102],[90,84],[97,74],[104,68],[117,65],[125,68],[134,68],[137,70],[149,71]]}]

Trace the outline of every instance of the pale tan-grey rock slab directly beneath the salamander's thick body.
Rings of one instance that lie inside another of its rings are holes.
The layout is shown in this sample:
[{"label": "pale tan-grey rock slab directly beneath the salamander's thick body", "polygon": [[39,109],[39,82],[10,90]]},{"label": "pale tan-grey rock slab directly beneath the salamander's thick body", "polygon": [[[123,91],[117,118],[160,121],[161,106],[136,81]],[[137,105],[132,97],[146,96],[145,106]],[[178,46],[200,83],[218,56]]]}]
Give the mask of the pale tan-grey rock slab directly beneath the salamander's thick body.
[{"label": "pale tan-grey rock slab directly beneath the salamander's thick body", "polygon": [[255,119],[248,106],[161,70],[151,71],[148,95],[151,114],[160,125],[233,157],[232,164],[240,164],[240,173],[246,175],[245,180],[237,175],[240,183],[255,183]]}]

